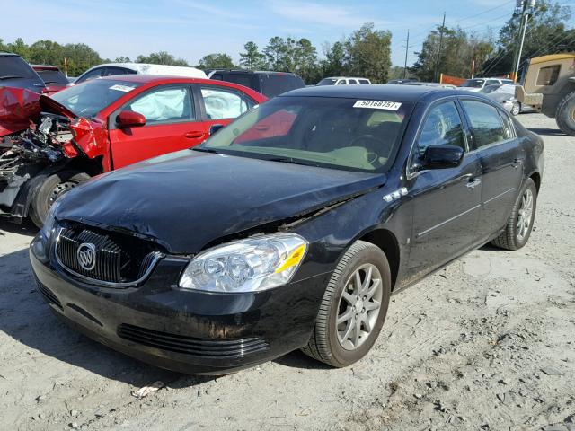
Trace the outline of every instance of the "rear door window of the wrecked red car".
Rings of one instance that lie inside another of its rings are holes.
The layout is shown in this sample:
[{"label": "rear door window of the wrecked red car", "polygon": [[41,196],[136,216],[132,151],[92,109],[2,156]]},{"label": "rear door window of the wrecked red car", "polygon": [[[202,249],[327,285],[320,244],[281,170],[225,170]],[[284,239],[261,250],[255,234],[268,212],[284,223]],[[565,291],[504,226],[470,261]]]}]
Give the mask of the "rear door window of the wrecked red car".
[{"label": "rear door window of the wrecked red car", "polygon": [[250,110],[254,103],[239,92],[218,87],[201,87],[208,119],[235,119]]}]

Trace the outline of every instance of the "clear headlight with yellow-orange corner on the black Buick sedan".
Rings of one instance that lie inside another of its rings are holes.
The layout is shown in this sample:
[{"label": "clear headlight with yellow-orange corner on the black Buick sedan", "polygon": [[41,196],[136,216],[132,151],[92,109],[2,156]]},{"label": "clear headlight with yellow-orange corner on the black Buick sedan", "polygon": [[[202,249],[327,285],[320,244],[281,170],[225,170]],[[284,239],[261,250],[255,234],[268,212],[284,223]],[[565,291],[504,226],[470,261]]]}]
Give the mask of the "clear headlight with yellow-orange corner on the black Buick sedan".
[{"label": "clear headlight with yellow-orange corner on the black Buick sedan", "polygon": [[229,242],[190,261],[181,289],[254,292],[285,285],[305,257],[307,242],[295,233],[275,233]]}]

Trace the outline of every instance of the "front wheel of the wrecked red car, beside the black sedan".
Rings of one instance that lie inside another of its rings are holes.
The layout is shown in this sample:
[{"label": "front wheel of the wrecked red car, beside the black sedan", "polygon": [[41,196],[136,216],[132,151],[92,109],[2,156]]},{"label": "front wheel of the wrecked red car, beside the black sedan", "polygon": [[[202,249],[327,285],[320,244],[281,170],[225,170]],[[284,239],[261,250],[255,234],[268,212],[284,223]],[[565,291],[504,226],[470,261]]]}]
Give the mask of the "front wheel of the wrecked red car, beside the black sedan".
[{"label": "front wheel of the wrecked red car, beside the black sedan", "polygon": [[32,197],[30,207],[31,221],[39,228],[44,225],[44,220],[52,204],[57,198],[74,189],[75,186],[89,180],[90,175],[85,172],[62,171],[50,175],[36,194]]}]

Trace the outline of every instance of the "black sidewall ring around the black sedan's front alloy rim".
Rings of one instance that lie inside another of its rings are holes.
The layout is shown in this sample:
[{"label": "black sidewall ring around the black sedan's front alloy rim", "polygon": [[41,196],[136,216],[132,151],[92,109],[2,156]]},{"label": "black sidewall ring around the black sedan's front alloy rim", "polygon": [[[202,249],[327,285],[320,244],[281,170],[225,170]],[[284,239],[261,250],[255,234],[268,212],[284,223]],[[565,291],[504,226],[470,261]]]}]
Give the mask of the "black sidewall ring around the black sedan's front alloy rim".
[{"label": "black sidewall ring around the black sedan's front alloy rim", "polygon": [[[341,347],[340,342],[337,338],[337,328],[335,321],[337,320],[339,304],[341,295],[343,294],[343,289],[346,286],[346,282],[353,272],[361,265],[365,263],[371,263],[379,269],[379,273],[382,277],[382,283],[384,292],[382,295],[381,308],[379,310],[379,315],[377,316],[376,325],[374,329],[369,334],[369,338],[356,350],[346,350]],[[341,273],[341,277],[337,281],[337,288],[332,295],[332,302],[330,304],[330,312],[327,321],[328,325],[328,344],[332,353],[332,357],[335,362],[339,363],[341,366],[351,365],[357,362],[359,359],[367,355],[367,352],[373,347],[376,342],[379,332],[381,331],[385,316],[387,314],[387,308],[389,306],[389,297],[391,295],[391,272],[389,269],[389,264],[387,259],[385,259],[385,254],[380,251],[376,246],[369,247],[358,251],[348,262],[346,268]]]}]

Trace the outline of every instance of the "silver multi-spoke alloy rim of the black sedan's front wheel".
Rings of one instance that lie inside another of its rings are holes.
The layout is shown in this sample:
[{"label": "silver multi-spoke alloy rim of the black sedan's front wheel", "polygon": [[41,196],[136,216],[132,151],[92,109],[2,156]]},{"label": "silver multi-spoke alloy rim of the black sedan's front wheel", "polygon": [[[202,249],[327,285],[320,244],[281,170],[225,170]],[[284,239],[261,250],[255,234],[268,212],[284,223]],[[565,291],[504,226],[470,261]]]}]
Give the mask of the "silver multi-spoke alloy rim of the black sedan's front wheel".
[{"label": "silver multi-spoke alloy rim of the black sedan's front wheel", "polygon": [[341,294],[336,319],[338,341],[356,350],[371,334],[381,308],[383,285],[379,269],[371,263],[356,269]]}]

